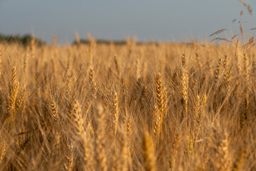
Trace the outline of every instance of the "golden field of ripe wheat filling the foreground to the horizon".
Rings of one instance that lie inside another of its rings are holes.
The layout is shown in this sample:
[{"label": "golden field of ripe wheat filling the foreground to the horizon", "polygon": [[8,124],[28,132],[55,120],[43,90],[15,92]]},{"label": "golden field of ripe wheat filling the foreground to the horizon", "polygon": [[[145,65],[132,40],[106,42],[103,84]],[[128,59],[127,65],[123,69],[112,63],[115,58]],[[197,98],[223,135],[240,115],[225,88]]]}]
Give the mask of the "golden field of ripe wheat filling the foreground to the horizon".
[{"label": "golden field of ripe wheat filling the foreground to the horizon", "polygon": [[251,43],[0,52],[0,170],[256,170]]}]

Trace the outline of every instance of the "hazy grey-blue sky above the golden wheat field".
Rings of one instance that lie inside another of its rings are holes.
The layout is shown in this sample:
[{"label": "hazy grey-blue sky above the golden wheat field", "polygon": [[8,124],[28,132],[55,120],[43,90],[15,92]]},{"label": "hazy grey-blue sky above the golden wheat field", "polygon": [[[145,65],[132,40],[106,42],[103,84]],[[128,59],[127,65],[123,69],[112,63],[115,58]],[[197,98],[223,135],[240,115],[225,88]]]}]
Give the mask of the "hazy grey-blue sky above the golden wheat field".
[{"label": "hazy grey-blue sky above the golden wheat field", "polygon": [[32,33],[50,43],[72,43],[75,31],[80,38],[138,41],[210,40],[209,35],[226,28],[223,37],[239,33],[240,11],[244,31],[256,27],[256,1],[244,0],[0,0],[0,33]]}]

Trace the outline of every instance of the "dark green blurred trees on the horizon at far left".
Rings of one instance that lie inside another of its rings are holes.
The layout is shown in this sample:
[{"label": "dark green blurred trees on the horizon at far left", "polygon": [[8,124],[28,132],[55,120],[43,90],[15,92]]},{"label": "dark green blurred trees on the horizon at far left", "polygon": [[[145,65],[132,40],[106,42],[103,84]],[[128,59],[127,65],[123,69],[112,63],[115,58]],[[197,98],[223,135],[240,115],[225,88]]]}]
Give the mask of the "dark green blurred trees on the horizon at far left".
[{"label": "dark green blurred trees on the horizon at far left", "polygon": [[[20,35],[4,35],[0,33],[0,43],[20,43],[23,46],[28,46],[31,43],[33,36],[26,34],[24,36]],[[46,42],[39,38],[35,38],[35,43],[37,46],[45,45]]]}]

